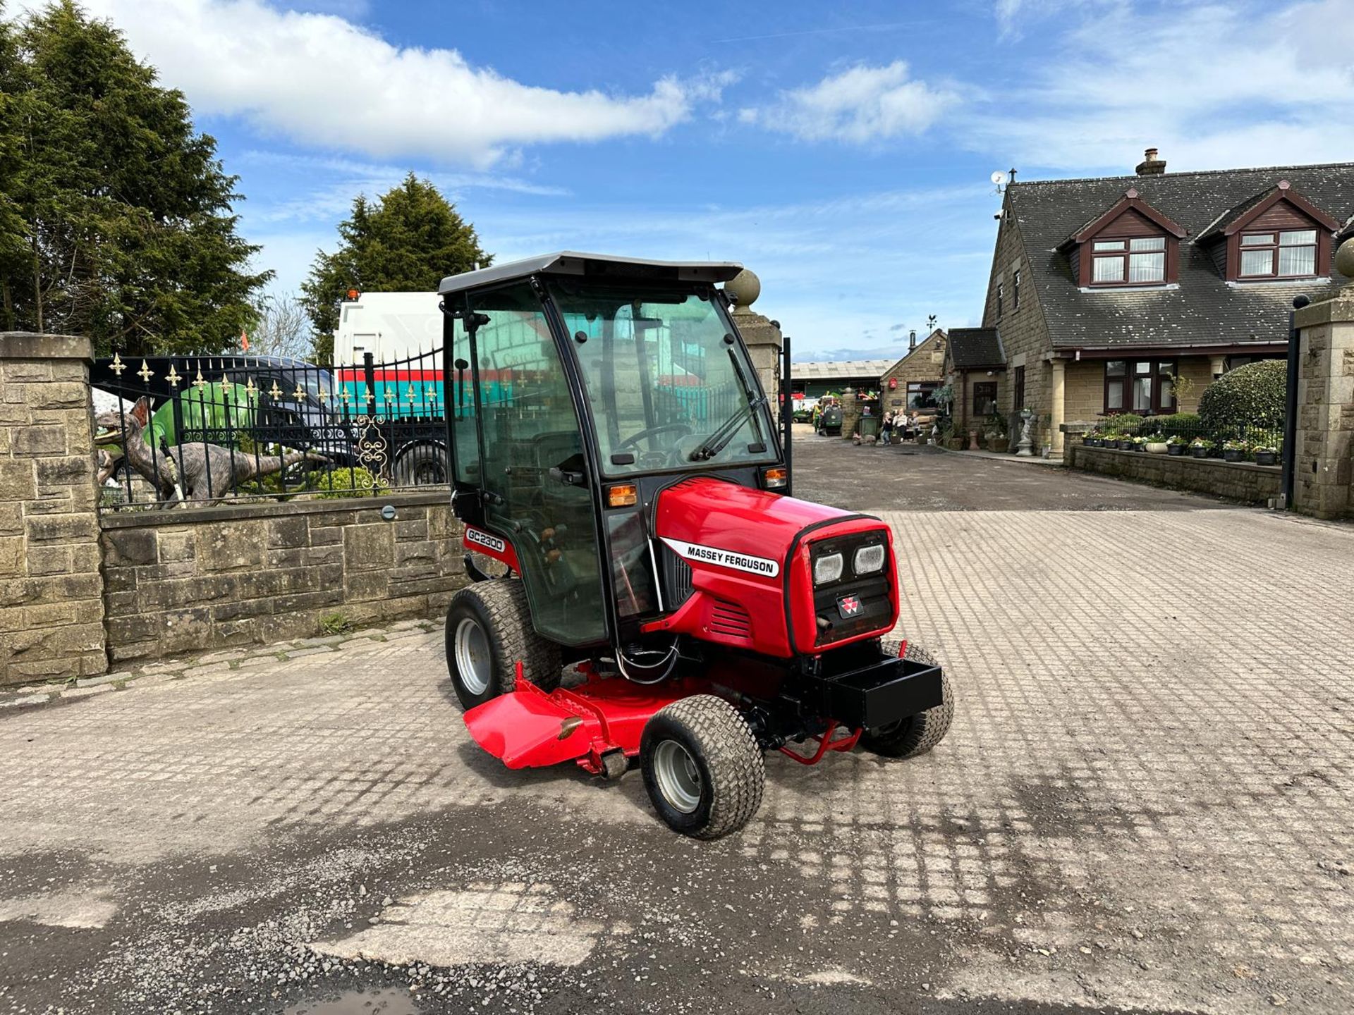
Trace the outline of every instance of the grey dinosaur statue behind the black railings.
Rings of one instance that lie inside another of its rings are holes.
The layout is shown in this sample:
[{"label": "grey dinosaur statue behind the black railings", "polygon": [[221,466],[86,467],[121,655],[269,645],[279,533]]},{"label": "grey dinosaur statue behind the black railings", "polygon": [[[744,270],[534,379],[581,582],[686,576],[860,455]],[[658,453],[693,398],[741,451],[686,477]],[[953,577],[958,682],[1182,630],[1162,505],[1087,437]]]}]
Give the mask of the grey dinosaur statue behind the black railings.
[{"label": "grey dinosaur statue behind the black railings", "polygon": [[157,452],[142,437],[149,420],[150,401],[146,398],[141,398],[130,411],[114,409],[102,413],[95,418],[93,443],[119,445],[131,467],[156,487],[162,508],[176,502],[206,508],[219,503],[227,493],[250,479],[280,472],[298,461],[329,461],[313,451],[246,455],[202,441],[180,444],[169,448],[168,453]]}]

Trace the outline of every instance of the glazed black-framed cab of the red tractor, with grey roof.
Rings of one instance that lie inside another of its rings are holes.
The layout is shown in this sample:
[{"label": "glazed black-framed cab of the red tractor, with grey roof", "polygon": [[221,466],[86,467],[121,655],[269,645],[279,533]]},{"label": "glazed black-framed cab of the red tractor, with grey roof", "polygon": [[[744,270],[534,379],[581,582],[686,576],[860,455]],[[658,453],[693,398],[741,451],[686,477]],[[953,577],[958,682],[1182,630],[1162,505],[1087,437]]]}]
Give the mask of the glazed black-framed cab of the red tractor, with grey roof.
[{"label": "glazed black-framed cab of the red tractor, with grey roof", "polygon": [[784,486],[716,288],[739,271],[556,254],[443,281],[456,514],[487,533],[475,549],[520,574],[543,637],[645,640],[680,593],[665,597],[653,545],[663,489],[696,475]]}]

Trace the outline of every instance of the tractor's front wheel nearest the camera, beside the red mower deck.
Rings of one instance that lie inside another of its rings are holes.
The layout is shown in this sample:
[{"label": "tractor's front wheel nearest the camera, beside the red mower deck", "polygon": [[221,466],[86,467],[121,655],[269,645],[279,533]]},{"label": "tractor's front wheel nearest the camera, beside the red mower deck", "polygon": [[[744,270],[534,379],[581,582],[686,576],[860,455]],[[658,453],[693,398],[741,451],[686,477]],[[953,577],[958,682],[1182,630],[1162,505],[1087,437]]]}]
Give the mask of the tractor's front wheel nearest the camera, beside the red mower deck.
[{"label": "tractor's front wheel nearest the camera, beside the red mower deck", "polygon": [[747,721],[714,694],[662,708],[639,742],[645,788],[673,831],[718,839],[761,805],[766,767]]}]

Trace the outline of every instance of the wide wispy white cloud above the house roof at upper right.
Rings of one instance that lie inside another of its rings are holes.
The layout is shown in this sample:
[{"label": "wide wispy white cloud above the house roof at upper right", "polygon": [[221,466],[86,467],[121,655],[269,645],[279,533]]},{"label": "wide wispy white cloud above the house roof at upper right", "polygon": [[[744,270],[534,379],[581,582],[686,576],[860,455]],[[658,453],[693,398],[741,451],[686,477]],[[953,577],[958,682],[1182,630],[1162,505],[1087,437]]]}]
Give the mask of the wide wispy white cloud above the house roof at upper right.
[{"label": "wide wispy white cloud above the house roof at upper right", "polygon": [[1354,157],[1349,0],[1098,8],[1059,49],[992,89],[960,125],[965,143],[1017,166],[1125,173],[1148,146],[1173,171]]}]

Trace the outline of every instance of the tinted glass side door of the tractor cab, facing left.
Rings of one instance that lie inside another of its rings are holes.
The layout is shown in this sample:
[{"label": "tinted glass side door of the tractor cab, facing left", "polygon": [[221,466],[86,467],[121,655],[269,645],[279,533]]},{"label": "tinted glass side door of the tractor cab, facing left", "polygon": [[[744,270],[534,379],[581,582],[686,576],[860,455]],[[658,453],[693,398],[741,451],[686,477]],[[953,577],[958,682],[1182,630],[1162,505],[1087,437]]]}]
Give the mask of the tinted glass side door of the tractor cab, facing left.
[{"label": "tinted glass side door of the tractor cab, facing left", "polygon": [[605,643],[597,508],[546,313],[527,283],[473,294],[466,310],[481,475],[460,475],[458,443],[458,482],[482,487],[487,526],[512,540],[536,631]]}]

